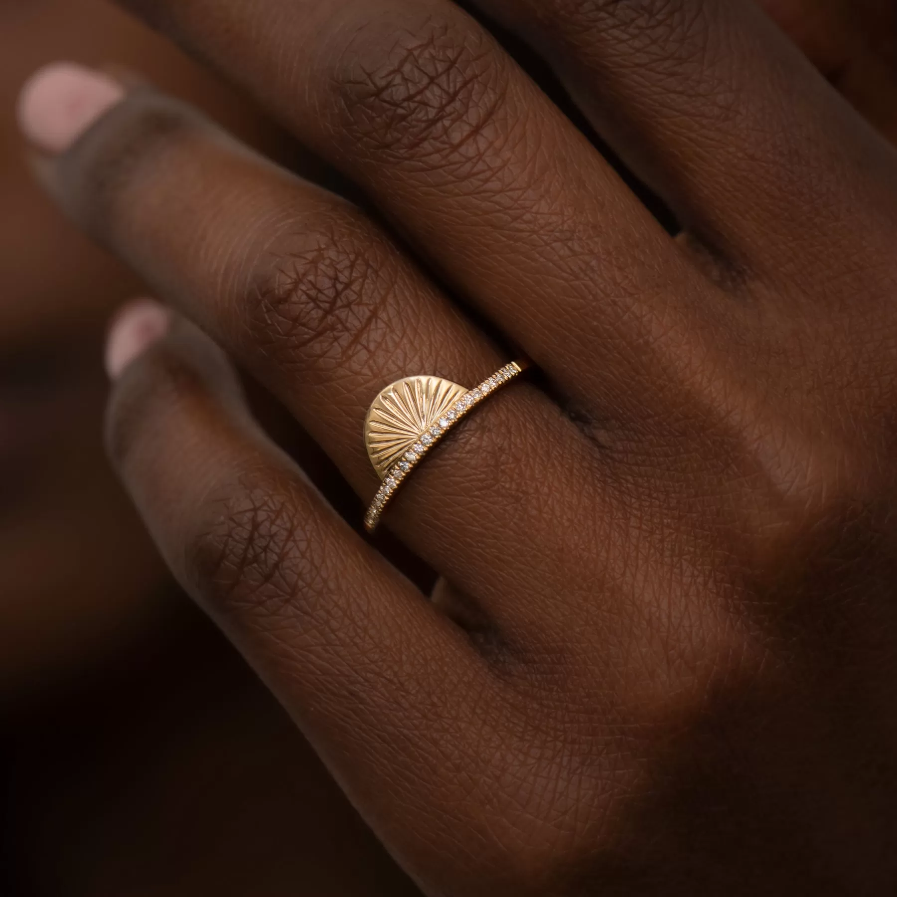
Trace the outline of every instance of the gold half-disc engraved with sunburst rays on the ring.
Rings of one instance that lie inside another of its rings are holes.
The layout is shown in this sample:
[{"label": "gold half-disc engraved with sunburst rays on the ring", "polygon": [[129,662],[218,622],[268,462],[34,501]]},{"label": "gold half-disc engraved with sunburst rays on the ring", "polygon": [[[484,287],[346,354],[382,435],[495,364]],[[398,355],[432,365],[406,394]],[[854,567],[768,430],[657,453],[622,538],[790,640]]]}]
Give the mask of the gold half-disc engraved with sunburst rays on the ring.
[{"label": "gold half-disc engraved with sunburst rays on the ring", "polygon": [[364,422],[364,444],[381,480],[466,392],[440,377],[406,377],[374,399]]}]

